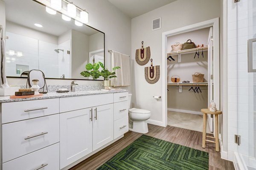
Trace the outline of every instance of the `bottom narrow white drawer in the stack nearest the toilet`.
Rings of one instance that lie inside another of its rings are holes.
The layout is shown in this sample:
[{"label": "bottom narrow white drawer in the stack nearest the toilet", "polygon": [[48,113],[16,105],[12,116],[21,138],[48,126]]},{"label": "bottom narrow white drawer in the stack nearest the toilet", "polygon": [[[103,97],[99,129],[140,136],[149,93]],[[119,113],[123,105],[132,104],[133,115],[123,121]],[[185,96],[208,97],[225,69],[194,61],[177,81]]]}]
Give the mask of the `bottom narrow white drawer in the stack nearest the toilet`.
[{"label": "bottom narrow white drawer in the stack nearest the toilet", "polygon": [[128,132],[128,116],[114,121],[114,139]]}]

